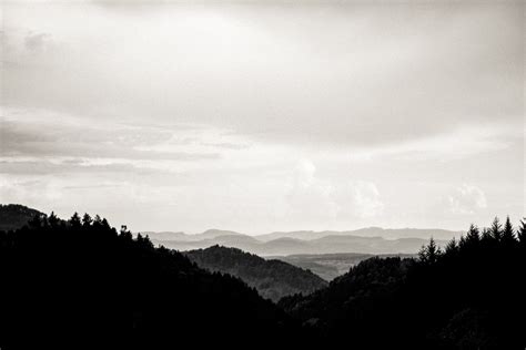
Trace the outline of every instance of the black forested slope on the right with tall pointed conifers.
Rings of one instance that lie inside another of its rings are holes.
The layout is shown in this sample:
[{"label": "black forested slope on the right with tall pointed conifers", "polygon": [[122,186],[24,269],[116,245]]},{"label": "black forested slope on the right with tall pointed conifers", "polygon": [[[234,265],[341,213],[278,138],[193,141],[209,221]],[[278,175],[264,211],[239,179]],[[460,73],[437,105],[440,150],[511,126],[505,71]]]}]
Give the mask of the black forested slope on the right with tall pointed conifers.
[{"label": "black forested slope on the right with tall pointed conifers", "polygon": [[372,258],[280,306],[316,333],[357,349],[524,349],[526,225],[472,226],[418,259]]}]

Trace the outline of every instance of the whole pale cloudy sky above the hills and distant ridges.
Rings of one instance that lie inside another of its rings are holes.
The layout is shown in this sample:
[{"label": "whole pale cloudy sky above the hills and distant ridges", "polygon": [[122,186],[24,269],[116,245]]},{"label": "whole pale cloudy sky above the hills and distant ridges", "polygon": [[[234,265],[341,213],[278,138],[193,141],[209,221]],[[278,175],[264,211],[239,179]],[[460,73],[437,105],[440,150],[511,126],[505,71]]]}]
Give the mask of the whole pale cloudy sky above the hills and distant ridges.
[{"label": "whole pale cloudy sky above the hills and distant ridges", "polygon": [[522,1],[0,6],[0,203],[251,235],[525,216]]}]

